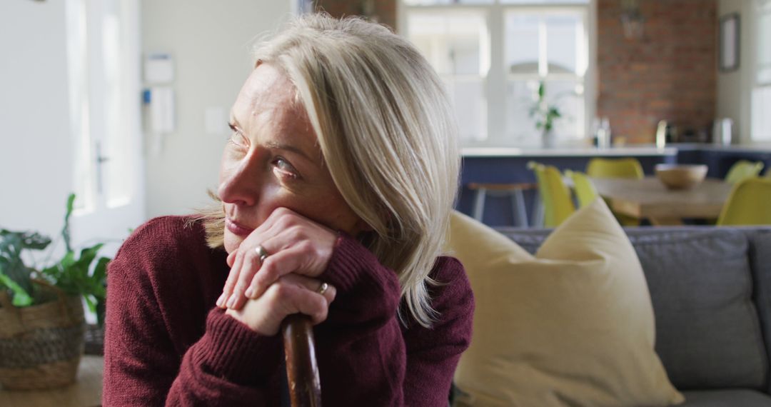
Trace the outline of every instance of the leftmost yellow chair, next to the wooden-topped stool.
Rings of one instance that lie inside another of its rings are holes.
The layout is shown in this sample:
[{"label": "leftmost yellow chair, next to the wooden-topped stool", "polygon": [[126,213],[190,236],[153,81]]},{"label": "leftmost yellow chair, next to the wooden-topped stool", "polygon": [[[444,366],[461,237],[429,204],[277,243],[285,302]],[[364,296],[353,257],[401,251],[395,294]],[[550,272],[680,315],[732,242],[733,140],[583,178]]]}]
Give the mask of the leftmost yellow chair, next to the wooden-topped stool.
[{"label": "leftmost yellow chair, next to the wooden-topped stool", "polygon": [[544,227],[557,227],[576,210],[571,190],[562,181],[562,174],[556,167],[530,162],[527,168],[533,170],[538,183],[538,193],[544,205]]}]

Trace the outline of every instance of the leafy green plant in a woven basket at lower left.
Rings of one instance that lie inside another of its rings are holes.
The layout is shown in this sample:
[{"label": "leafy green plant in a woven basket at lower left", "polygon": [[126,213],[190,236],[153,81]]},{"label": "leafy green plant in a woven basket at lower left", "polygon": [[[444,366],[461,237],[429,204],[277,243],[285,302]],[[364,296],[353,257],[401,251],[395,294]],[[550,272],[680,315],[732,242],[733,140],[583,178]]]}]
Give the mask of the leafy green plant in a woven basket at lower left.
[{"label": "leafy green plant in a woven basket at lower left", "polygon": [[[75,381],[86,329],[81,298],[103,322],[106,266],[96,255],[103,244],[73,250],[66,204],[62,239],[66,253],[48,267],[25,264],[26,251],[42,251],[49,237],[0,229],[0,385],[46,389]],[[96,264],[94,261],[96,260]]]}]

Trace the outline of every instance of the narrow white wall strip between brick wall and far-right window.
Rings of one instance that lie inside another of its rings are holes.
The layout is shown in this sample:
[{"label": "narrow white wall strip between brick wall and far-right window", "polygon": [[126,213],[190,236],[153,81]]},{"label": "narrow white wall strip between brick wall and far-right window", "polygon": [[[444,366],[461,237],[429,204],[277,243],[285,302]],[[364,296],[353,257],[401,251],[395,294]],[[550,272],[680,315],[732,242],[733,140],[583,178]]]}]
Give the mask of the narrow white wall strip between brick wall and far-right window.
[{"label": "narrow white wall strip between brick wall and far-right window", "polygon": [[[719,0],[718,18],[730,13],[739,13],[739,69],[733,72],[718,72],[718,117],[730,117],[735,126],[734,134],[740,143],[751,143],[752,82],[755,75],[756,27],[754,0]],[[719,41],[719,39],[718,39]],[[734,142],[736,143],[736,141]]]}]

